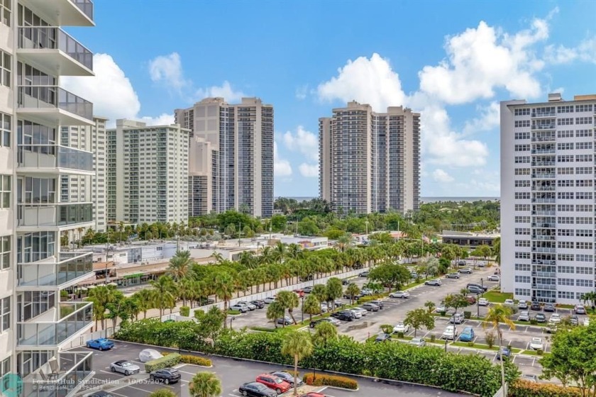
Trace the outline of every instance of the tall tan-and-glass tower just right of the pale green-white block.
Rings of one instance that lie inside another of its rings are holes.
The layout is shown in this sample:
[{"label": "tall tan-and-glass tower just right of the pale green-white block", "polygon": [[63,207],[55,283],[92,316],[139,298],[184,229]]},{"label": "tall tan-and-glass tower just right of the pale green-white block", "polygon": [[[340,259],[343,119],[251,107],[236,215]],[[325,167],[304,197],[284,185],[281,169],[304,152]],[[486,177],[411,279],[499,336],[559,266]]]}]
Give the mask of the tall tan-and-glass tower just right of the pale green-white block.
[{"label": "tall tan-and-glass tower just right of the pale green-white block", "polygon": [[176,109],[176,123],[192,130],[189,216],[234,208],[273,213],[273,106],[258,98],[227,104],[206,98]]}]

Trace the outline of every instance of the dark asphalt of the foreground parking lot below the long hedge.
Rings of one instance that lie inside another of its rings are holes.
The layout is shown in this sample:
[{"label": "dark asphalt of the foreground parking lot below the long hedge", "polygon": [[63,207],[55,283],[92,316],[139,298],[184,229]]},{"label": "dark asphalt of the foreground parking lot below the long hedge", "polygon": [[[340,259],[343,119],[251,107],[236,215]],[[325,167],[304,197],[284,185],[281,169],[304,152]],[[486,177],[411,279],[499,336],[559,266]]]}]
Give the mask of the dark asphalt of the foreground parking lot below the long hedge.
[{"label": "dark asphalt of the foreground parking lot below the long hedge", "polygon": [[[94,381],[92,385],[104,384],[102,388],[111,393],[114,397],[145,397],[155,390],[160,388],[169,388],[174,391],[177,396],[189,396],[188,384],[194,374],[199,371],[212,371],[221,379],[222,393],[221,396],[226,397],[241,397],[238,392],[238,386],[245,382],[254,381],[259,374],[270,371],[287,369],[283,366],[273,364],[263,364],[258,362],[245,362],[235,359],[225,359],[221,357],[210,357],[213,361],[213,368],[198,367],[191,364],[180,364],[177,369],[182,374],[182,380],[177,384],[155,384],[149,381],[148,374],[145,374],[143,364],[138,362],[138,353],[148,346],[137,345],[128,342],[116,342],[113,350],[104,352],[94,351],[93,355],[93,369],[95,371]],[[82,347],[78,350],[87,350]],[[168,349],[160,349],[161,351],[168,351]],[[172,351],[172,350],[169,350]],[[123,376],[121,374],[114,374],[110,371],[110,363],[118,359],[128,359],[141,367],[141,373],[138,375]],[[307,369],[302,370],[302,372]],[[412,396],[412,397],[426,397],[426,396],[446,396],[455,397],[460,396],[458,393],[449,393],[435,388],[427,388],[423,386],[409,386],[398,384],[384,384],[376,382],[372,379],[358,379],[358,391],[344,391],[336,388],[312,387],[305,386],[302,392],[306,391],[323,391],[329,397],[343,397],[343,396],[375,396],[375,397],[393,397]],[[92,391],[84,391],[79,393],[79,396],[87,396]],[[292,391],[288,391],[282,396],[292,395]]]}]

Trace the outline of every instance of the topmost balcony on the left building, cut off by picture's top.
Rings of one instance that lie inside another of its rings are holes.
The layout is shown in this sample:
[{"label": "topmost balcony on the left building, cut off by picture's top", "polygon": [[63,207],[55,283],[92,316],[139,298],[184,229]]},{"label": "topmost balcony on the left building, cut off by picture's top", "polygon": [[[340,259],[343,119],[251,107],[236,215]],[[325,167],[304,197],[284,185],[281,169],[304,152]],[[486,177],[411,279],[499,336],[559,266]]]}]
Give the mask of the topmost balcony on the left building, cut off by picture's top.
[{"label": "topmost balcony on the left building, cut off by picture's top", "polygon": [[55,26],[95,26],[92,0],[29,0],[28,4]]}]

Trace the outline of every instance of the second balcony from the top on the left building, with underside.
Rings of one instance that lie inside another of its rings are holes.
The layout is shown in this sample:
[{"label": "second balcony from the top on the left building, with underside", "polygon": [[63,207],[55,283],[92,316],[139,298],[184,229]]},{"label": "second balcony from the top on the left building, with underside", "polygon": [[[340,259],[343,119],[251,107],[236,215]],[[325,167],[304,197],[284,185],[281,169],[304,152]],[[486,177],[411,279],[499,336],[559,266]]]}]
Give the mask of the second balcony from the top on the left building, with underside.
[{"label": "second balcony from the top on the left building, with underside", "polygon": [[18,28],[17,55],[54,76],[93,76],[93,53],[58,27]]}]

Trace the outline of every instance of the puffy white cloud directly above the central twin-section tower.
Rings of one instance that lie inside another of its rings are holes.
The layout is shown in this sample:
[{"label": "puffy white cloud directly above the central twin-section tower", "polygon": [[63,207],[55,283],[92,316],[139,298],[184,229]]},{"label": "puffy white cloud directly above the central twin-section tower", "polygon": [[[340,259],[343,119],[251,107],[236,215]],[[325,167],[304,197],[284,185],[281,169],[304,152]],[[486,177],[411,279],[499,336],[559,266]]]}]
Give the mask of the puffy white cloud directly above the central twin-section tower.
[{"label": "puffy white cloud directly above the central twin-section tower", "polygon": [[386,111],[387,106],[403,104],[405,99],[399,75],[389,60],[376,52],[370,58],[348,60],[337,76],[319,84],[316,92],[321,101],[355,100],[370,104],[375,111]]}]

